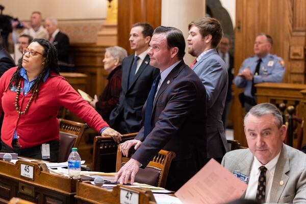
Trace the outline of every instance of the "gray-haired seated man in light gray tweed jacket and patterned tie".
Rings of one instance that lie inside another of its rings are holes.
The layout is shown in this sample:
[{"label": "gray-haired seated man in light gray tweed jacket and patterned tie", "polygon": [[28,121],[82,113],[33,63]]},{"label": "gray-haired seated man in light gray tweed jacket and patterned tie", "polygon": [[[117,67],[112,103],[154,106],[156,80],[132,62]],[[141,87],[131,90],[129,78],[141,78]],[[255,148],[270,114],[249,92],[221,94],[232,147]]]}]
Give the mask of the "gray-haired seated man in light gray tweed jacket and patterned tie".
[{"label": "gray-haired seated man in light gray tweed jacket and patterned tie", "polygon": [[248,184],[243,198],[267,203],[306,203],[306,155],[283,143],[286,126],[272,104],[244,117],[248,149],[227,152],[222,165]]}]

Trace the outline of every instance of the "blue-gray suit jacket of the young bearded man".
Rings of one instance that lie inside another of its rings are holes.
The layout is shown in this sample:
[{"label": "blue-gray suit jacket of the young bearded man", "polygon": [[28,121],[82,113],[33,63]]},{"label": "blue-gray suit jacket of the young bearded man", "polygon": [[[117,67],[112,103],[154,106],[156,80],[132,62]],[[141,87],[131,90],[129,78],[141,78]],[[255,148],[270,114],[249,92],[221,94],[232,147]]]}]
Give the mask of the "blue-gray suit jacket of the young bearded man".
[{"label": "blue-gray suit jacket of the young bearded man", "polygon": [[228,151],[222,113],[228,76],[225,62],[216,49],[206,53],[193,67],[206,88],[207,95],[207,154],[208,158],[222,158],[223,147]]}]

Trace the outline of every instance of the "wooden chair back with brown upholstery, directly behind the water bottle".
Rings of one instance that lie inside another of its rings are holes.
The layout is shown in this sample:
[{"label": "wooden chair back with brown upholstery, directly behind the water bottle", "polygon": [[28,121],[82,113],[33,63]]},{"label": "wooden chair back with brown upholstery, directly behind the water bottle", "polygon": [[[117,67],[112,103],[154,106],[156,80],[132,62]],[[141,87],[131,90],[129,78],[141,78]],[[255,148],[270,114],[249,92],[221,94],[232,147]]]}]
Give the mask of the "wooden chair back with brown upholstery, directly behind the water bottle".
[{"label": "wooden chair back with brown upholstery, directly behind the water bottle", "polygon": [[74,122],[66,119],[59,119],[60,122],[60,147],[59,161],[66,162],[72,147],[79,147],[86,123]]}]

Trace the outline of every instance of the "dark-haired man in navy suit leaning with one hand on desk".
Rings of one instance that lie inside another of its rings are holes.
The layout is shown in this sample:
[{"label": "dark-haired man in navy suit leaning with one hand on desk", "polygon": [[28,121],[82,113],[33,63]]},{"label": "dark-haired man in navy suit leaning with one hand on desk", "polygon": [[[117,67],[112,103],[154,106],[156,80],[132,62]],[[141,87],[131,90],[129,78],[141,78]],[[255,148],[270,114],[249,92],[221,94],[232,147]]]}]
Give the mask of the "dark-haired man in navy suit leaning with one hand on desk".
[{"label": "dark-haired man in navy suit leaning with one hand on desk", "polygon": [[[161,149],[174,151],[166,188],[176,191],[207,162],[206,90],[187,66],[183,33],[158,27],[150,41],[150,65],[161,74],[152,85],[143,107],[144,126],[134,140],[121,145],[123,155],[132,146],[132,159],[117,173],[116,181],[131,183],[139,167],[144,168]],[[156,90],[157,89],[157,90]]]}]

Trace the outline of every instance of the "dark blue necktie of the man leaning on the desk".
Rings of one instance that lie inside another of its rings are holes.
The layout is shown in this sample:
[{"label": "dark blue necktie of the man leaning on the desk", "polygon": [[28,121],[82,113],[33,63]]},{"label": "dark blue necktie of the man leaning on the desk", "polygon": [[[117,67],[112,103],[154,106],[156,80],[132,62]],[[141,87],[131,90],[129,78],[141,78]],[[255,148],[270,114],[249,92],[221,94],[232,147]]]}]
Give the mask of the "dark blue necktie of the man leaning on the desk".
[{"label": "dark blue necktie of the man leaning on the desk", "polygon": [[154,80],[147,98],[147,103],[145,107],[145,117],[144,117],[144,138],[146,138],[146,136],[152,131],[151,117],[152,117],[153,101],[155,98],[154,97],[155,92],[158,87],[160,79],[161,79],[161,74],[159,74],[157,78]]}]

